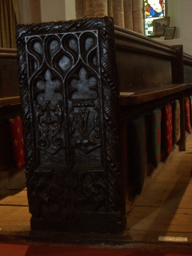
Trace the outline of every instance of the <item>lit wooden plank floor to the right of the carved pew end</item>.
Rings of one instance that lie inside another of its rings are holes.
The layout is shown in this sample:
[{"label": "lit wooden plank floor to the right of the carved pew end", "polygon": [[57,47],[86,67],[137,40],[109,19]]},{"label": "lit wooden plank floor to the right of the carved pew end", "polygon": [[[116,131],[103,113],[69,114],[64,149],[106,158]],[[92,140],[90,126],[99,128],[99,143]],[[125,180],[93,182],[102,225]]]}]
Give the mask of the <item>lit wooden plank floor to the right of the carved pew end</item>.
[{"label": "lit wooden plank floor to the right of the carved pew end", "polygon": [[192,233],[192,140],[160,173],[156,182],[127,214],[127,230]]}]

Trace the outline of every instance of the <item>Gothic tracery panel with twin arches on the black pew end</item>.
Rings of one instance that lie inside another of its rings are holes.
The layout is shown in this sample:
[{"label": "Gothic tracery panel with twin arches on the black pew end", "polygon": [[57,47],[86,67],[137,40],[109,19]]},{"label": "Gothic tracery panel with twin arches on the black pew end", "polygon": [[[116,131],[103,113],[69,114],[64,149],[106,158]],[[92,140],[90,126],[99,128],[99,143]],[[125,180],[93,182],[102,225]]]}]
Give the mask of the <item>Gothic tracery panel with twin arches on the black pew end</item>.
[{"label": "Gothic tracery panel with twin arches on the black pew end", "polygon": [[34,35],[26,44],[37,166],[102,165],[97,31]]}]

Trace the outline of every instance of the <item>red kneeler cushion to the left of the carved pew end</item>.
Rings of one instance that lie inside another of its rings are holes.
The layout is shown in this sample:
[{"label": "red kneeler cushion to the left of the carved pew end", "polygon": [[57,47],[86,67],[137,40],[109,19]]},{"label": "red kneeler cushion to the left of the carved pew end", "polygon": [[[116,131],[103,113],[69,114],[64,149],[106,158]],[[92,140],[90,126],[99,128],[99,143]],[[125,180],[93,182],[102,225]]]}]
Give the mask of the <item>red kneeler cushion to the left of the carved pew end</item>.
[{"label": "red kneeler cushion to the left of the carved pew end", "polygon": [[22,118],[16,116],[9,119],[9,127],[15,165],[21,168],[25,164]]}]

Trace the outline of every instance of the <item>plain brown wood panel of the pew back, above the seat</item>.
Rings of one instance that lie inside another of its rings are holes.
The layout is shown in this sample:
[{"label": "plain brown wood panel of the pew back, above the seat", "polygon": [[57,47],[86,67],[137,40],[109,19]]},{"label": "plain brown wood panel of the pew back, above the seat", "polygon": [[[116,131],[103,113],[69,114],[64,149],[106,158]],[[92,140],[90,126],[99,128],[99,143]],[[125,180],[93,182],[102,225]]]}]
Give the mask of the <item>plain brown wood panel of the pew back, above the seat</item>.
[{"label": "plain brown wood panel of the pew back, above the seat", "polygon": [[169,60],[125,50],[117,50],[116,60],[121,92],[159,88],[172,83]]}]

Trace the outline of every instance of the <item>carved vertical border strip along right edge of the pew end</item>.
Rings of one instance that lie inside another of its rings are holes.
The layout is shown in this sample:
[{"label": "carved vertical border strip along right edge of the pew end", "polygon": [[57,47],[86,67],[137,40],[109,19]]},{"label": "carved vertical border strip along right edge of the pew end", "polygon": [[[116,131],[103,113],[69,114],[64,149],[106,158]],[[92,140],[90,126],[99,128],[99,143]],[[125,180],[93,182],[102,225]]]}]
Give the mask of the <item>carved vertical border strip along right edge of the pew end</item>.
[{"label": "carved vertical border strip along right edge of the pew end", "polygon": [[104,129],[106,143],[106,169],[108,170],[109,210],[122,208],[122,180],[120,165],[120,144],[118,127],[118,92],[115,81],[115,45],[112,24],[107,23],[101,30],[101,67],[104,99]]}]

